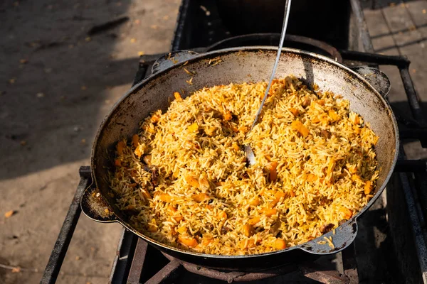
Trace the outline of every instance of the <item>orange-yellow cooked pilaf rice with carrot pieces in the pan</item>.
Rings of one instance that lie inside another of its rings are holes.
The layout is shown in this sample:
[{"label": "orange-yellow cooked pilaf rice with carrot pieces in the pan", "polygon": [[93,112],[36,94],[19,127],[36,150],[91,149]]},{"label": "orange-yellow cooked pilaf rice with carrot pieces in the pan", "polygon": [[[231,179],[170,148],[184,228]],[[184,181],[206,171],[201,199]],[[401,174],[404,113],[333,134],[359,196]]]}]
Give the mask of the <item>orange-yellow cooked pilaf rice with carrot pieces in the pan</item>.
[{"label": "orange-yellow cooked pilaf rice with carrot pieces in the pan", "polygon": [[[189,251],[265,253],[305,243],[371,199],[378,137],[349,102],[275,80],[179,93],[117,143],[111,187],[132,226]],[[246,165],[249,143],[256,164]]]}]

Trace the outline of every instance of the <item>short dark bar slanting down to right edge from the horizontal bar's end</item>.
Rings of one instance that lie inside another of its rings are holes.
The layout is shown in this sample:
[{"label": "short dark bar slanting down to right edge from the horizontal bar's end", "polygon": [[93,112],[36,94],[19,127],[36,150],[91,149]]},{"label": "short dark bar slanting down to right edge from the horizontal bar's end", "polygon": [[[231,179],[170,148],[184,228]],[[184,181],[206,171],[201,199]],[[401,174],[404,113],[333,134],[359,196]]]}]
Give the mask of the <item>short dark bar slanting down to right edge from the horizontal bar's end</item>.
[{"label": "short dark bar slanting down to right edge from the horizontal bar's end", "polygon": [[399,67],[401,78],[404,82],[406,97],[408,97],[408,103],[411,107],[413,117],[418,121],[421,126],[426,127],[426,117],[424,116],[423,109],[421,108],[421,99],[420,97],[418,97],[415,87],[413,87],[413,82],[411,79],[411,75],[409,75],[408,67],[409,65]]}]

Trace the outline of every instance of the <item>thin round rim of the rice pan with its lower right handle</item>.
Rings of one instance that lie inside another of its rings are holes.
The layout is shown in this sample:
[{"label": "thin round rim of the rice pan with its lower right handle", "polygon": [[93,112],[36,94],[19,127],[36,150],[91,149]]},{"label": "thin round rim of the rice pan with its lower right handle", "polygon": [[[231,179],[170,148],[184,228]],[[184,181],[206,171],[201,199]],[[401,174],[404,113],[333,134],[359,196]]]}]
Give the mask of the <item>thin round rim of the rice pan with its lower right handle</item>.
[{"label": "thin round rim of the rice pan with its lower right handle", "polygon": [[[226,48],[223,50],[215,50],[209,53],[204,53],[204,54],[200,54],[200,55],[196,55],[194,56],[194,58],[191,58],[189,60],[189,62],[194,62],[197,60],[206,60],[209,58],[215,58],[218,55],[227,55],[227,54],[231,54],[231,53],[236,53],[239,51],[248,51],[248,52],[262,52],[263,50],[265,51],[275,51],[278,48],[274,48],[274,47],[270,47],[270,46],[251,46],[251,47],[240,47],[240,48]],[[308,57],[311,57],[312,59],[317,58],[317,60],[321,60],[325,63],[329,63],[331,65],[334,65],[335,67],[339,67],[343,70],[346,70],[349,74],[349,76],[351,76],[354,79],[359,80],[360,82],[363,82],[363,84],[371,90],[371,92],[373,92],[382,102],[382,106],[384,109],[386,109],[387,114],[389,115],[392,123],[393,123],[393,130],[394,130],[394,136],[395,136],[395,149],[394,149],[394,158],[393,158],[393,162],[391,163],[391,167],[389,170],[389,173],[386,175],[386,178],[384,179],[383,184],[381,185],[381,187],[379,188],[379,190],[376,192],[376,195],[374,195],[374,197],[372,197],[372,199],[368,202],[367,206],[365,206],[362,210],[360,210],[356,215],[354,215],[354,217],[352,217],[352,219],[349,219],[346,223],[342,224],[341,226],[339,226],[337,228],[337,235],[335,235],[334,237],[338,237],[338,235],[340,234],[339,229],[345,228],[345,227],[349,227],[351,226],[352,228],[354,228],[354,224],[356,224],[357,222],[357,218],[363,214],[367,209],[369,209],[371,207],[371,205],[376,201],[376,199],[379,197],[379,195],[381,195],[381,193],[384,191],[384,188],[386,187],[387,182],[389,182],[389,179],[391,178],[391,175],[393,173],[394,167],[396,165],[396,160],[397,160],[397,156],[399,154],[399,131],[397,128],[397,122],[396,122],[396,118],[394,117],[393,112],[391,111],[391,107],[389,106],[388,102],[386,102],[386,100],[381,96],[381,94],[379,94],[379,92],[376,91],[376,89],[374,89],[374,87],[371,86],[371,84],[369,84],[369,82],[367,82],[367,80],[364,80],[364,78],[357,74],[356,72],[354,72],[353,70],[349,69],[349,67],[346,67],[345,65],[340,64],[339,62],[335,62],[334,60],[331,60],[330,58],[327,58],[325,56],[322,55],[317,55],[315,53],[310,53],[307,51],[303,51],[303,50],[297,50],[297,49],[292,49],[292,48],[283,48],[283,52],[285,53],[290,53],[292,55],[295,56],[300,56],[300,55],[305,55]],[[117,107],[125,100],[126,97],[130,96],[131,94],[139,91],[139,89],[141,87],[144,86],[144,84],[147,84],[147,82],[149,82],[150,80],[153,80],[154,78],[160,77],[162,75],[164,75],[165,73],[167,73],[169,70],[172,70],[174,68],[178,68],[181,67],[181,65],[183,65],[184,62],[180,62],[176,65],[173,65],[172,67],[169,67],[165,70],[159,71],[156,74],[147,77],[145,80],[143,80],[142,82],[140,82],[139,84],[136,84],[134,87],[132,87],[123,97],[121,97],[116,103],[115,105],[112,107],[111,111],[109,114],[107,114],[107,116],[105,117],[105,119],[102,121],[102,124],[100,125],[100,128],[98,129],[96,135],[95,135],[95,140],[93,143],[93,148],[92,148],[92,153],[91,153],[91,159],[90,159],[90,163],[91,163],[91,168],[92,168],[92,175],[93,175],[93,180],[95,182],[95,186],[97,187],[97,179],[94,175],[94,171],[95,171],[95,153],[96,152],[96,145],[98,140],[100,139],[100,137],[102,136],[102,131],[105,127],[105,125],[107,124],[107,122],[110,121],[110,118],[112,116],[112,114],[115,114],[115,111],[117,111]],[[100,153],[102,154],[102,153]],[[115,210],[112,208],[111,204],[108,203],[108,201],[105,199],[105,197],[103,195],[101,195],[102,199],[104,199],[105,203],[107,204],[108,209],[110,209],[112,212],[115,212]],[[328,254],[328,253],[337,253],[339,251],[342,251],[343,249],[345,249],[347,246],[349,246],[349,244],[352,243],[354,237],[357,234],[357,226],[356,229],[352,229],[350,231],[344,230],[342,237],[340,237],[339,239],[342,239],[343,244],[342,246],[337,247],[336,249],[332,249],[329,248],[328,246],[322,246],[322,248],[320,248],[320,246],[317,244],[317,241],[320,241],[323,239],[324,236],[330,236],[331,233],[325,234],[320,236],[317,239],[313,239],[312,241],[307,241],[304,244],[300,244],[297,246],[292,246],[288,249],[284,249],[281,251],[273,251],[270,253],[259,253],[259,254],[251,254],[251,255],[246,255],[246,256],[221,256],[221,255],[211,255],[211,254],[205,254],[205,253],[195,253],[195,252],[191,252],[191,251],[185,251],[183,249],[177,249],[174,248],[172,246],[167,246],[164,245],[162,243],[159,243],[159,241],[155,241],[153,239],[148,238],[147,236],[144,236],[143,234],[141,234],[139,231],[136,231],[135,229],[132,228],[132,226],[130,226],[130,224],[128,224],[123,218],[122,218],[122,214],[116,214],[117,215],[117,222],[120,222],[120,224],[122,224],[123,226],[125,226],[127,229],[129,229],[130,231],[132,231],[134,234],[136,234],[137,236],[141,237],[142,239],[148,241],[149,243],[153,244],[154,246],[159,246],[160,248],[163,249],[167,249],[169,251],[174,251],[176,253],[184,253],[188,256],[197,256],[200,258],[217,258],[217,259],[224,259],[224,258],[256,258],[256,257],[265,257],[265,256],[271,256],[271,255],[275,255],[278,253],[284,253],[286,251],[293,251],[295,249],[301,249],[302,251],[307,251],[309,253],[313,253],[313,254]],[[345,241],[344,239],[346,239],[347,241]],[[327,249],[327,247],[329,249]]]}]

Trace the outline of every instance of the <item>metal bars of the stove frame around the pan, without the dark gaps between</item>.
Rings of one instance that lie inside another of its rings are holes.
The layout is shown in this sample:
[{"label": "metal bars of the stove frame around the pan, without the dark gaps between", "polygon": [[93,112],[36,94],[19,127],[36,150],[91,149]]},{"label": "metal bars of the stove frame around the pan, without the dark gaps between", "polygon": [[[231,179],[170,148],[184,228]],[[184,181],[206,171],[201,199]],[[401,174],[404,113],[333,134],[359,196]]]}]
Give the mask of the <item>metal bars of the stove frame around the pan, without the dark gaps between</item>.
[{"label": "metal bars of the stove frame around the pan, without the dark gaps between", "polygon": [[[191,33],[186,33],[189,28],[188,13],[192,8],[192,0],[183,0],[179,10],[179,19],[176,26],[174,40],[172,42],[172,50],[188,48],[186,46],[191,38]],[[358,0],[351,0],[352,4],[352,21],[356,23],[357,28],[354,29],[352,35],[353,39],[350,40],[353,47],[357,50],[367,50],[372,52],[372,45],[370,42],[369,34],[367,33],[366,23],[362,8]],[[223,39],[223,38],[221,38]],[[204,52],[206,48],[196,48],[193,50],[197,52]],[[411,76],[408,71],[410,62],[403,56],[387,56],[377,55],[374,53],[362,53],[350,50],[339,50],[344,59],[344,64],[347,65],[394,65],[399,69],[401,80],[404,84],[408,104],[411,108],[413,119],[407,116],[400,115],[395,110],[397,120],[399,122],[399,132],[401,140],[418,140],[421,145],[427,147],[427,123],[426,116],[421,109],[421,102],[416,94],[413,86]],[[162,55],[143,55],[139,60],[139,68],[135,76],[135,82],[141,81],[144,77],[149,75],[151,65]],[[84,190],[92,184],[90,175],[90,167],[83,166],[79,170],[80,182],[70,204],[70,209],[65,217],[58,239],[53,247],[51,258],[49,258],[46,270],[43,273],[41,283],[56,283],[60,267],[62,266],[65,254],[67,252],[70,241],[73,237],[75,226],[80,217],[80,199]],[[420,279],[423,283],[427,283],[427,225],[424,211],[421,207],[427,208],[427,164],[425,160],[406,160],[403,148],[399,155],[399,160],[396,165],[394,183],[401,188],[401,194],[404,196],[406,206],[404,209],[408,214],[408,221],[410,222],[411,235],[413,237],[413,244],[416,247],[416,256],[418,257],[419,271],[421,273]],[[142,239],[139,239],[135,234],[123,229],[120,242],[117,246],[117,254],[115,256],[112,273],[110,274],[109,283],[140,283],[143,276],[142,268],[146,263],[147,253],[150,246]],[[263,271],[262,273],[239,273],[239,272],[218,272],[207,268],[200,268],[198,266],[182,263],[176,259],[169,259],[158,273],[148,279],[148,283],[169,283],[176,277],[183,269],[195,273],[202,273],[209,277],[214,277],[228,282],[237,280],[257,280],[275,275],[288,273],[289,271],[297,271],[307,278],[317,280],[320,283],[357,283],[357,267],[354,259],[354,248],[349,246],[348,249],[340,253],[342,258],[342,265],[339,271],[326,270],[316,266],[313,263],[302,263],[299,266],[285,267],[274,269],[272,271]]]}]

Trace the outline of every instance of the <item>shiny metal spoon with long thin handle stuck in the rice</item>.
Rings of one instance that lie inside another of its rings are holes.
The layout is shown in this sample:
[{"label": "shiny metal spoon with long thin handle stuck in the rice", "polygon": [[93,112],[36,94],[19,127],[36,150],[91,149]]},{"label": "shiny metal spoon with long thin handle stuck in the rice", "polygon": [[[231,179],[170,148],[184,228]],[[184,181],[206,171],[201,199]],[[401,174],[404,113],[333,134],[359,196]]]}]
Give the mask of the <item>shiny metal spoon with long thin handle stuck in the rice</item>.
[{"label": "shiny metal spoon with long thin handle stuck in the rice", "polygon": [[[279,43],[279,48],[278,48],[278,55],[276,56],[276,60],[274,62],[273,71],[271,72],[270,81],[268,82],[267,89],[265,89],[265,94],[264,94],[264,97],[263,97],[263,101],[261,102],[260,108],[256,112],[255,120],[253,121],[253,124],[252,124],[251,129],[249,130],[249,132],[253,129],[253,126],[255,126],[256,122],[258,121],[258,117],[260,116],[261,111],[263,109],[263,106],[264,106],[264,103],[265,103],[265,99],[267,99],[268,91],[270,91],[271,82],[273,82],[275,71],[276,71],[276,69],[278,67],[278,62],[279,62],[280,54],[282,53],[283,41],[285,40],[286,28],[288,27],[290,2],[291,2],[291,0],[286,0],[286,4],[285,4],[285,16],[283,18],[283,27],[282,27],[282,34],[280,35],[280,43]],[[251,146],[249,146],[249,145],[243,145],[243,148],[244,148],[244,151],[246,153],[246,159],[248,160],[249,165],[255,164],[255,154],[253,153]]]}]

